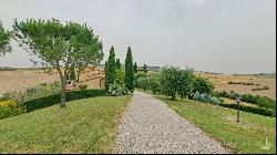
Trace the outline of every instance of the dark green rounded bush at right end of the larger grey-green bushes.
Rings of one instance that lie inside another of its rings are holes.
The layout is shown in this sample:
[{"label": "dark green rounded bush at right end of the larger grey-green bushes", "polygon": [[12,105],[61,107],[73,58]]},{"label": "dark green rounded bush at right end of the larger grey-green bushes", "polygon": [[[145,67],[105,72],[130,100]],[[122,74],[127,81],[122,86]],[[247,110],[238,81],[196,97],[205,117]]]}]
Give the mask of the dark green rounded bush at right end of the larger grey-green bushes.
[{"label": "dark green rounded bush at right end of the larger grey-green bushes", "polygon": [[194,93],[198,91],[201,94],[202,93],[211,94],[213,90],[214,90],[213,83],[199,76],[195,78],[195,82],[193,83]]}]

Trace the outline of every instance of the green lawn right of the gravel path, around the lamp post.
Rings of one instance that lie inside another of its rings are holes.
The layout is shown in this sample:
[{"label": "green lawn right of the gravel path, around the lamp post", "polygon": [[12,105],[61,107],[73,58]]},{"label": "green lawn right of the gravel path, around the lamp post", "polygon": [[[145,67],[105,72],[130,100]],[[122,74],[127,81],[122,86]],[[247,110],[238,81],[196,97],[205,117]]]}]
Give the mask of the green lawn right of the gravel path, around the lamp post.
[{"label": "green lawn right of the gravel path, around the lamp post", "polygon": [[[236,153],[276,153],[276,118],[240,112],[240,122],[236,122],[236,110],[201,103],[191,100],[171,101],[156,95],[213,138],[222,142]],[[266,138],[269,149],[263,149]]]}]

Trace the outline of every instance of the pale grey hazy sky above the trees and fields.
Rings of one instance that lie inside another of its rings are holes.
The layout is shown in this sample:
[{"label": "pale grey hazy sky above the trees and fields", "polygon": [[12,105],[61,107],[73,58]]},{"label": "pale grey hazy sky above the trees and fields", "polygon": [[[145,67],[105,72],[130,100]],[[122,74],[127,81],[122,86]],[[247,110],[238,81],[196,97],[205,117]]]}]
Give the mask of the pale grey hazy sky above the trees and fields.
[{"label": "pale grey hazy sky above the trees and fields", "polygon": [[[189,65],[224,73],[276,70],[275,0],[1,0],[0,20],[27,18],[88,23],[124,62],[132,46],[140,65]],[[18,48],[0,66],[30,66]]]}]

